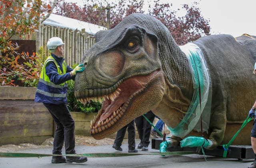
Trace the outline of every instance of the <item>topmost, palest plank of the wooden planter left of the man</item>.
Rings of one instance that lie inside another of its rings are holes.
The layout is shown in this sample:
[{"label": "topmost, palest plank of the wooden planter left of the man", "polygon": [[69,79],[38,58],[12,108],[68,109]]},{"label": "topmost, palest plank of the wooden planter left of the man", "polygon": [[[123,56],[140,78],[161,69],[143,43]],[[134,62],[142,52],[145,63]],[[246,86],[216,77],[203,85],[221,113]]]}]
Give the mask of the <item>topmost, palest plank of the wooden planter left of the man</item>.
[{"label": "topmost, palest plank of the wooden planter left of the man", "polygon": [[34,100],[36,88],[0,86],[0,100]]}]

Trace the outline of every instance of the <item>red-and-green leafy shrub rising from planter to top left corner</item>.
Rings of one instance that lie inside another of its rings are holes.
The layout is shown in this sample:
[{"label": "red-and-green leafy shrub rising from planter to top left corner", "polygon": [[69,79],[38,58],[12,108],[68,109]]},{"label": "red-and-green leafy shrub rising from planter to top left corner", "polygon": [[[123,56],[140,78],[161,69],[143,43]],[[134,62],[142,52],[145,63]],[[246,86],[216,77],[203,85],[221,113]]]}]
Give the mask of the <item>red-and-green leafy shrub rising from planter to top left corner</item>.
[{"label": "red-and-green leafy shrub rising from planter to top left corner", "polygon": [[34,52],[18,53],[11,39],[34,32],[50,9],[41,0],[0,1],[0,86],[37,86],[44,60]]}]

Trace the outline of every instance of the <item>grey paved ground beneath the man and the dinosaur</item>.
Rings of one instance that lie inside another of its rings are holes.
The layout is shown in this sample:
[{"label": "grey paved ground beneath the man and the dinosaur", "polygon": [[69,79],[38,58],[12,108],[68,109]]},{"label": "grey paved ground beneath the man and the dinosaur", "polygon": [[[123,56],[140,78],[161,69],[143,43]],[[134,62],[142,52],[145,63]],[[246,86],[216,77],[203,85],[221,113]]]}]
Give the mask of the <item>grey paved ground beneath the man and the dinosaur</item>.
[{"label": "grey paved ground beneath the man and the dinosaur", "polygon": [[[136,140],[136,144],[139,141]],[[139,153],[158,152],[149,146],[148,152],[139,150]],[[124,140],[123,152],[128,152],[127,140]],[[52,147],[34,148],[20,150],[24,153],[43,153],[51,154]],[[117,152],[112,145],[103,146],[76,146],[76,152],[96,153],[96,152]],[[207,160],[207,161],[206,161]],[[155,156],[139,155],[112,158],[88,158],[83,164],[52,164],[51,157],[42,158],[0,158],[0,168],[247,168],[252,162],[250,160],[238,160],[234,158],[221,158],[207,156],[206,160],[202,155],[189,154],[179,156]]]}]

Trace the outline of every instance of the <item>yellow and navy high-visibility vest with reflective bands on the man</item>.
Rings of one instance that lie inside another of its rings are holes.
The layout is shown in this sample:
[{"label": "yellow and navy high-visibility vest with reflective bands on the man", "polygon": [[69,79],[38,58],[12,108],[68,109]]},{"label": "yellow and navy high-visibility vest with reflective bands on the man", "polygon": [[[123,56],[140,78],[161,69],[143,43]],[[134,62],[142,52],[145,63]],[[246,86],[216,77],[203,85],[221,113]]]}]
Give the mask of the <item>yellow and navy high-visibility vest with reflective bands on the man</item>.
[{"label": "yellow and navy high-visibility vest with reflective bands on the man", "polygon": [[46,66],[49,62],[54,62],[57,72],[60,75],[66,74],[67,65],[66,62],[62,62],[62,70],[58,66],[56,60],[49,56],[46,61],[44,62],[44,66],[42,68],[42,72],[40,74],[37,90],[36,90],[36,97],[35,102],[44,102],[50,104],[66,104],[67,103],[67,84],[66,82],[62,84],[54,84],[50,81],[50,78],[46,75]]}]

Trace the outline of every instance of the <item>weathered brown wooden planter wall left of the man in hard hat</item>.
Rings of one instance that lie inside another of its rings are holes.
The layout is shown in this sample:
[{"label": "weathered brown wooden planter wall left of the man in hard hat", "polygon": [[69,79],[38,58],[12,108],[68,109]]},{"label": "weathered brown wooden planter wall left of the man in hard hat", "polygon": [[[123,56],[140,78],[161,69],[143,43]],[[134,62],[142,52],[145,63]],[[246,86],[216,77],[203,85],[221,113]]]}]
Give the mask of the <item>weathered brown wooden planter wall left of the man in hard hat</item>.
[{"label": "weathered brown wooden planter wall left of the man in hard hat", "polygon": [[53,119],[42,103],[35,103],[36,88],[0,86],[0,145],[41,144],[53,135]]}]

